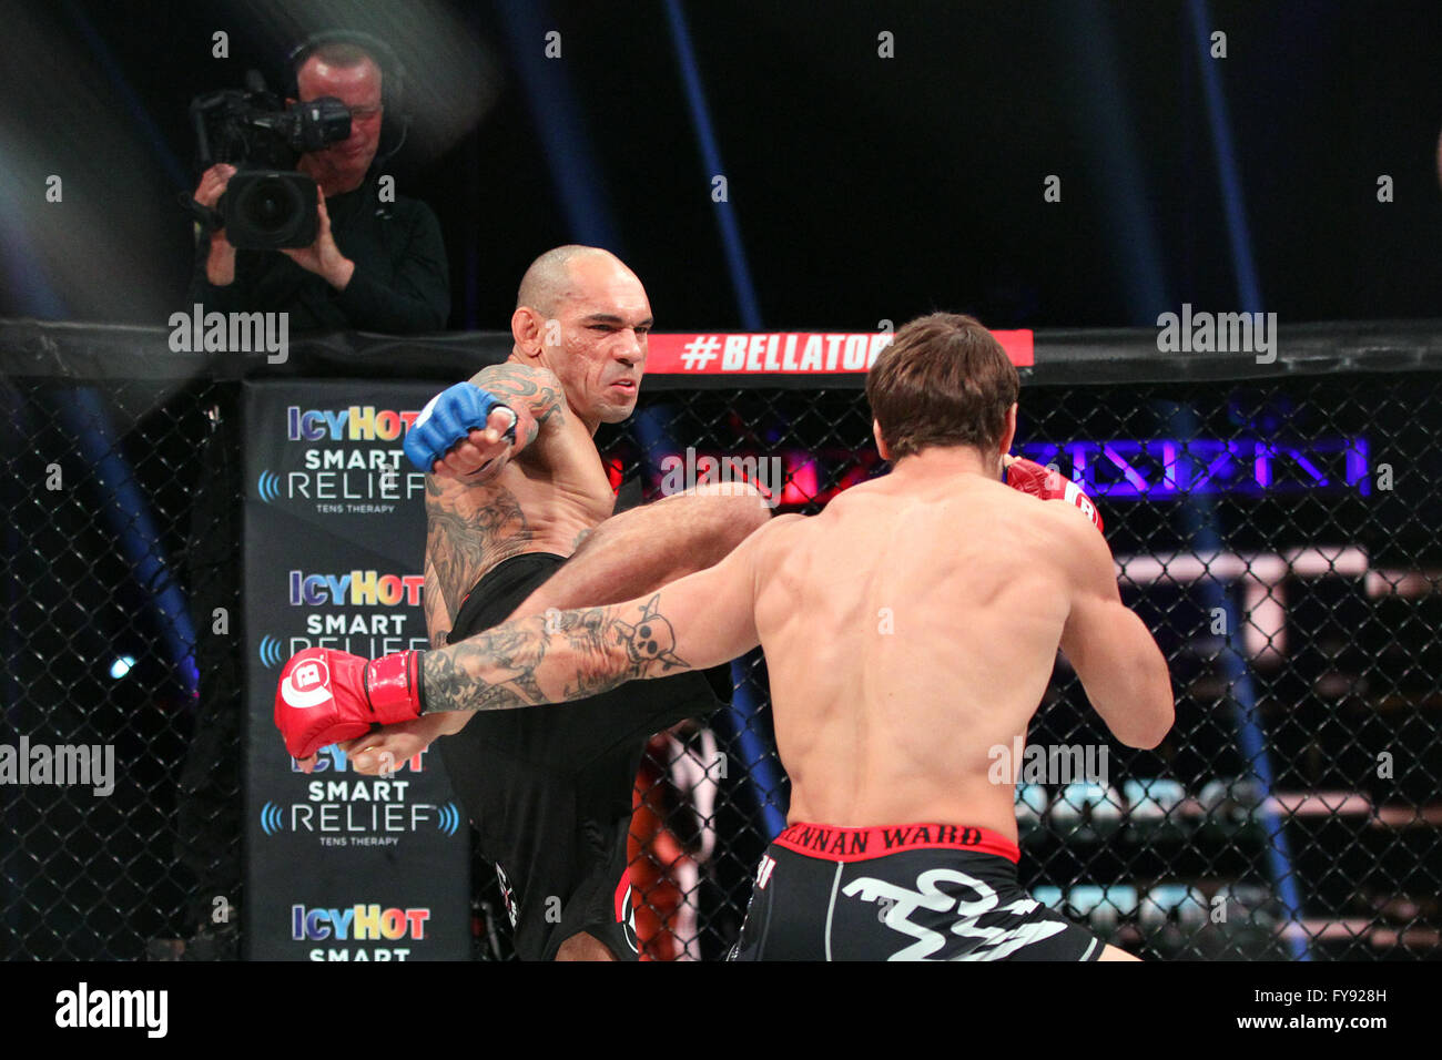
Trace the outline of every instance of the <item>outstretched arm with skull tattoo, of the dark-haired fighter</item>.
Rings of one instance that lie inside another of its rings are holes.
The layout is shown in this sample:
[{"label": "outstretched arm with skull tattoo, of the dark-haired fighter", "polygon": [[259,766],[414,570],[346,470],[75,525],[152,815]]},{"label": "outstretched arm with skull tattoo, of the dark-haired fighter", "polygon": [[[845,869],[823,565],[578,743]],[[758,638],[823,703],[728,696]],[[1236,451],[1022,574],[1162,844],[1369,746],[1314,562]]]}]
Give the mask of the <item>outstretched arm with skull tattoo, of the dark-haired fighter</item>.
[{"label": "outstretched arm with skull tattoo, of the dark-haired fighter", "polygon": [[[756,584],[787,518],[715,567],[610,607],[518,619],[421,659],[425,712],[584,699],[637,678],[705,669],[748,652]],[[769,541],[771,544],[769,544]]]}]

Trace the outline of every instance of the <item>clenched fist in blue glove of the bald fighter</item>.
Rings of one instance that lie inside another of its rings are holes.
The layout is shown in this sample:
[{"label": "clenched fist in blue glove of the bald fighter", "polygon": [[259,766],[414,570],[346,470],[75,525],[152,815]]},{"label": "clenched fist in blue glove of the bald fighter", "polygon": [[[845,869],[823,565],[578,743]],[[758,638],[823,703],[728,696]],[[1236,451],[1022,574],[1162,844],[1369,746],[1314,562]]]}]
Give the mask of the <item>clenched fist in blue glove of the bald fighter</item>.
[{"label": "clenched fist in blue glove of the bald fighter", "polygon": [[480,387],[459,382],[427,402],[405,433],[405,456],[420,472],[473,474],[516,440],[515,410]]}]

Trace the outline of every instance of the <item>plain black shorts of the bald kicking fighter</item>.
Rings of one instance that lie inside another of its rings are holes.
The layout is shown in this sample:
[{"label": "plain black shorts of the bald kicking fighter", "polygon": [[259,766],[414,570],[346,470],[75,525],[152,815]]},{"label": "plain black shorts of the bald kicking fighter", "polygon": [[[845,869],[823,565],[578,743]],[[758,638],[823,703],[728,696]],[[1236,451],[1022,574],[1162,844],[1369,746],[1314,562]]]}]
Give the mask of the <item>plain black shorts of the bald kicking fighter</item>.
[{"label": "plain black shorts of the bald kicking fighter", "polygon": [[[450,643],[505,622],[565,562],[506,560],[461,603]],[[730,668],[632,681],[590,699],[480,711],[438,741],[456,796],[495,862],[522,960],[551,960],[577,932],[636,958],[626,839],[646,740],[730,699]]]}]

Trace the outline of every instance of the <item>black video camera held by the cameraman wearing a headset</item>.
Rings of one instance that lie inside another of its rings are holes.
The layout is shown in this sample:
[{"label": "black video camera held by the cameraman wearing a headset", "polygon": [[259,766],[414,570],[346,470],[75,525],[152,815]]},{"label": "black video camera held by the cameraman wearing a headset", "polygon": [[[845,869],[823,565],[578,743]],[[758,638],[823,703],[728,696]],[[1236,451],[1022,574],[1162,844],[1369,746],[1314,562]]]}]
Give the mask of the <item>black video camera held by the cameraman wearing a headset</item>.
[{"label": "black video camera held by the cameraman wearing a headset", "polygon": [[212,231],[225,228],[238,249],[309,247],[320,231],[316,182],[297,173],[296,162],[348,138],[350,111],[329,95],[283,107],[255,71],[245,84],[190,101],[200,169],[224,162],[238,172],[216,209],[186,205]]}]

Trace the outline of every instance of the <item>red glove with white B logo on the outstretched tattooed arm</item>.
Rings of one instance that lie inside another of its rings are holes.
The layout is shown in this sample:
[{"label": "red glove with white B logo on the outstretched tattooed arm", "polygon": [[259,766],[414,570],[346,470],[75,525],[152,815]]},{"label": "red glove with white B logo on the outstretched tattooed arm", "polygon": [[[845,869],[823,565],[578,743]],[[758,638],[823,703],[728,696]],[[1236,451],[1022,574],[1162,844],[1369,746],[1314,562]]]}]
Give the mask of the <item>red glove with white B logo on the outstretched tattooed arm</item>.
[{"label": "red glove with white B logo on the outstretched tattooed arm", "polygon": [[372,724],[420,717],[421,655],[398,652],[369,661],[307,648],[291,656],[275,689],[275,727],[286,750],[309,759],[326,744],[369,733]]}]

